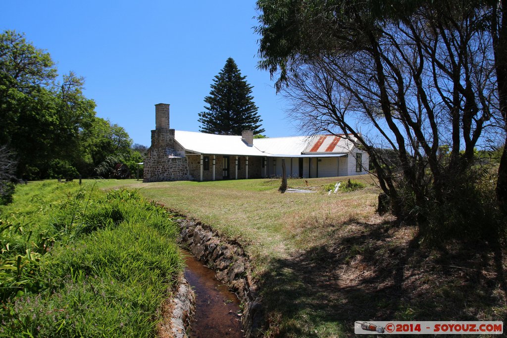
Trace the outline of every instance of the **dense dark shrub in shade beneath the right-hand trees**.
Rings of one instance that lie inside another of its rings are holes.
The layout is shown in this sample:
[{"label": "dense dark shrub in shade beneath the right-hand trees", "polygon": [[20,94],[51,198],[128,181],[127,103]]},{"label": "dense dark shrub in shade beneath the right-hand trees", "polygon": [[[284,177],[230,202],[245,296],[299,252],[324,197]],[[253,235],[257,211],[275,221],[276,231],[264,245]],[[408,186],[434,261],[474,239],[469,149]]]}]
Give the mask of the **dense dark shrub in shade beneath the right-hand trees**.
[{"label": "dense dark shrub in shade beneath the right-hand trees", "polygon": [[[494,174],[476,166],[447,175],[436,188],[426,185],[422,199],[404,180],[397,181],[398,201],[403,204],[408,224],[417,224],[421,238],[440,245],[448,240],[485,240],[497,245],[505,240],[507,219],[494,201]],[[392,205],[392,202],[390,202]]]}]

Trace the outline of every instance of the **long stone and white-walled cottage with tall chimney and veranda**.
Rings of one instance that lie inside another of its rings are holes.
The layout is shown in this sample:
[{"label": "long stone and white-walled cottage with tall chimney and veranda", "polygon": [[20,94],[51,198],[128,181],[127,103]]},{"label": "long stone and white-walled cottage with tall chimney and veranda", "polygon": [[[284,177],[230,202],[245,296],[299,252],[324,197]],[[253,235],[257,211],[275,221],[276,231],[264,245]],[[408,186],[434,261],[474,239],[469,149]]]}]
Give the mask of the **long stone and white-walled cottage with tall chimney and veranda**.
[{"label": "long stone and white-walled cottage with tall chimney and veranda", "polygon": [[253,138],[169,128],[169,104],[155,105],[155,130],[144,160],[144,182],[220,180],[281,176],[334,177],[365,174],[368,154],[350,136],[314,135]]}]

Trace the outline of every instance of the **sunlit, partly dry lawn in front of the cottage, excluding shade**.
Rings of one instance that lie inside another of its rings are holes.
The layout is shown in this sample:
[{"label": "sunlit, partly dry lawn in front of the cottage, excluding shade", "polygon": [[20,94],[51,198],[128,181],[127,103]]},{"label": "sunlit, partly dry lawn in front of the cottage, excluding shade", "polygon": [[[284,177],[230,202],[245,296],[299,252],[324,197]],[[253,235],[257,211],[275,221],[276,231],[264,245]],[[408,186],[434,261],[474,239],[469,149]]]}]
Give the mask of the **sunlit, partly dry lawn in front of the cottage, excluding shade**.
[{"label": "sunlit, partly dry lawn in front of the cottage, excluding shade", "polygon": [[[348,177],[340,180],[346,181]],[[126,186],[165,205],[171,211],[209,224],[221,235],[241,243],[259,264],[266,258],[286,257],[294,249],[307,249],[324,239],[319,224],[378,221],[377,189],[370,176],[355,178],[368,189],[328,195],[322,187],[337,178],[289,179],[289,187],[312,187],[316,193],[280,194],[279,179],[210,182],[142,183],[136,180],[99,181],[102,188]],[[306,182],[308,181],[308,186]]]}]

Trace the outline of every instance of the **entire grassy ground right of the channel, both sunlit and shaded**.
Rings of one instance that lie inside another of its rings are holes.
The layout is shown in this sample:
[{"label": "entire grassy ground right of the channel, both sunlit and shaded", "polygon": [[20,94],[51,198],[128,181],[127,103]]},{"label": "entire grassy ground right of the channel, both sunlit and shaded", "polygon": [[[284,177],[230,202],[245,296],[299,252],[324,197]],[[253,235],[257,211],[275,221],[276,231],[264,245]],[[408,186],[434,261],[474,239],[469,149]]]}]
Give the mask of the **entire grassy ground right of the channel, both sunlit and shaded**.
[{"label": "entire grassy ground right of the channel, both sunlit and shaded", "polygon": [[[319,187],[335,180],[308,182]],[[144,196],[243,245],[271,321],[266,334],[352,335],[356,320],[507,317],[504,252],[487,243],[425,247],[415,228],[394,227],[375,214],[373,186],[328,196],[321,189],[280,194],[279,180],[272,179],[101,183],[121,185],[142,188]]]}]

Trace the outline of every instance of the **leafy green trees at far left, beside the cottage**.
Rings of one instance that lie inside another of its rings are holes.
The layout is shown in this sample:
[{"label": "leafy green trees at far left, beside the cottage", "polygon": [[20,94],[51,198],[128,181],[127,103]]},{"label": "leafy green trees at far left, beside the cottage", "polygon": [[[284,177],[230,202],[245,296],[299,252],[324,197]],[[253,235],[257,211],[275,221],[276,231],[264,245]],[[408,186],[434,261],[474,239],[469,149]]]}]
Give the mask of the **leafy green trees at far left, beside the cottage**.
[{"label": "leafy green trees at far left, beside the cottage", "polygon": [[[16,163],[12,176],[107,176],[114,162],[135,173],[141,154],[124,128],[96,116],[96,104],[83,95],[83,86],[74,72],[59,77],[49,53],[24,34],[0,34],[0,146]],[[95,170],[104,166],[100,173]]]}]

